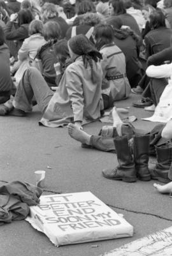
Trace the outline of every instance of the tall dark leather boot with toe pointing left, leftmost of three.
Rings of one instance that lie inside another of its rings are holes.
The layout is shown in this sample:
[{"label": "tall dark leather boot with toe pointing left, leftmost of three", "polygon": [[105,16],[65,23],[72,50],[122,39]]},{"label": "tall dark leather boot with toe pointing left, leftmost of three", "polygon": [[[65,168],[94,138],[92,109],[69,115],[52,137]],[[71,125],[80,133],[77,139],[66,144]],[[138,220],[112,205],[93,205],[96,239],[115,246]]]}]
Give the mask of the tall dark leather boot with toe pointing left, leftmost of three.
[{"label": "tall dark leather boot with toe pointing left, leftmost of three", "polygon": [[133,156],[129,150],[127,135],[114,138],[114,144],[117,151],[118,166],[114,169],[103,170],[103,176],[107,179],[122,179],[125,182],[136,181],[136,170]]}]

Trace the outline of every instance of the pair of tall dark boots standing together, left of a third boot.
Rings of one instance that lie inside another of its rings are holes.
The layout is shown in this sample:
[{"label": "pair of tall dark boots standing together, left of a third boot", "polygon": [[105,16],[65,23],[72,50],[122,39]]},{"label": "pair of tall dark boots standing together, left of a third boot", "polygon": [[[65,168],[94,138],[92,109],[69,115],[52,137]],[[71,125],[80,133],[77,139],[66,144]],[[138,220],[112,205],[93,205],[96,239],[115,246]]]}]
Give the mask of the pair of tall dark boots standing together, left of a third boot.
[{"label": "pair of tall dark boots standing together, left of a third boot", "polygon": [[114,138],[114,144],[119,164],[115,169],[103,170],[103,176],[108,179],[122,179],[125,182],[134,182],[137,178],[141,181],[150,181],[148,170],[150,136],[134,135],[133,155],[127,136]]}]

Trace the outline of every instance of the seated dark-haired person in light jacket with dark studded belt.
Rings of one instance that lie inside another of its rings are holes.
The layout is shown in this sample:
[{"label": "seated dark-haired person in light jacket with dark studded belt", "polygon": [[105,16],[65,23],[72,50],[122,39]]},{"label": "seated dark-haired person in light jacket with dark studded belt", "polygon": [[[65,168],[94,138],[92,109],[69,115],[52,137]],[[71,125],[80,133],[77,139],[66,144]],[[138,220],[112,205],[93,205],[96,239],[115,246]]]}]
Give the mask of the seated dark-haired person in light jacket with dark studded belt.
[{"label": "seated dark-haired person in light jacket with dark studded belt", "polygon": [[103,55],[101,68],[103,71],[102,95],[104,109],[113,106],[113,102],[127,98],[131,87],[126,74],[125,56],[113,41],[113,29],[109,25],[100,24],[94,29],[96,47]]}]

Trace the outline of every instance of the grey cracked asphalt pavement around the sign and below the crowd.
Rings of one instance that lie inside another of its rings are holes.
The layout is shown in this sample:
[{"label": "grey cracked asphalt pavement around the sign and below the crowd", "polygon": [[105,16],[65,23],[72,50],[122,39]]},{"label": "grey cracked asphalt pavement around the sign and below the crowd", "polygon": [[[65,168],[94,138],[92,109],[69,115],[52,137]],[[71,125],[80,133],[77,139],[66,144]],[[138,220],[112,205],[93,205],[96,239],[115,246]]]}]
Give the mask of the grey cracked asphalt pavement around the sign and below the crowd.
[{"label": "grey cracked asphalt pavement around the sign and below the crowd", "polygon": [[[138,98],[132,94],[116,105],[129,107],[129,115],[138,117],[134,126],[150,131],[157,123],[140,118],[152,113],[131,107]],[[172,199],[157,193],[153,187],[155,181],[124,183],[105,179],[101,171],[118,164],[116,154],[83,149],[69,137],[66,128],[39,126],[40,118],[37,107],[27,117],[0,117],[0,185],[15,180],[34,184],[34,171],[46,170],[43,195],[90,191],[122,213],[133,225],[134,235],[56,248],[45,234],[25,220],[14,221],[0,226],[0,256],[98,256],[172,225]],[[97,121],[87,124],[84,130],[97,134],[102,125]],[[151,158],[150,163],[154,165],[155,159]]]}]

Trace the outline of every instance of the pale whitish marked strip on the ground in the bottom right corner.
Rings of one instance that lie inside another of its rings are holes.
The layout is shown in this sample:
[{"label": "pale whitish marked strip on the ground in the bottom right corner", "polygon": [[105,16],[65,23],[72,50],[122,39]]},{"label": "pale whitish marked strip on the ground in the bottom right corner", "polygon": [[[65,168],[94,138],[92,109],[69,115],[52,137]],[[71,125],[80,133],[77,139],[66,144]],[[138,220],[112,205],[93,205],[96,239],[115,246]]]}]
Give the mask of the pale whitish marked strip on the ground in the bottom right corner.
[{"label": "pale whitish marked strip on the ground in the bottom right corner", "polygon": [[172,255],[172,227],[135,240],[101,256]]}]

